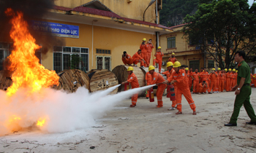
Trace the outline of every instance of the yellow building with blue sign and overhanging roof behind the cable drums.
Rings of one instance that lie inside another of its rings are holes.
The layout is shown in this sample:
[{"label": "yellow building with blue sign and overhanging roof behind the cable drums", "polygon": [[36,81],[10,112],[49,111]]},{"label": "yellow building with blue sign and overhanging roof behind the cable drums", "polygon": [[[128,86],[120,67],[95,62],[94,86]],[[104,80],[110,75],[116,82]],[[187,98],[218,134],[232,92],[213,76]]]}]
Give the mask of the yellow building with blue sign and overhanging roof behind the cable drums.
[{"label": "yellow building with blue sign and overhanging roof behind the cable drums", "polygon": [[[157,24],[162,0],[148,7],[150,1],[55,1],[56,6],[48,15],[33,20],[30,25],[35,31],[51,32],[65,42],[64,45],[53,44],[46,55],[39,55],[42,65],[56,72],[63,71],[69,69],[72,55],[79,55],[83,61],[79,68],[112,70],[123,64],[122,52],[133,55],[138,51],[143,38],[152,39],[157,46],[159,35],[170,34],[173,30]],[[0,42],[0,60],[3,61],[11,45],[6,40],[0,39]]]}]

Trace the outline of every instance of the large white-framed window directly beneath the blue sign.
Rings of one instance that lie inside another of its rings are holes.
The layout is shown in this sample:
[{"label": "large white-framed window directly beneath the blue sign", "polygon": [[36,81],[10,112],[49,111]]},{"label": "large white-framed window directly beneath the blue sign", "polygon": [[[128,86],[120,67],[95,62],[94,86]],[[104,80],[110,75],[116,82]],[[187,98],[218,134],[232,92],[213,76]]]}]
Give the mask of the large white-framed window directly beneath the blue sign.
[{"label": "large white-framed window directly beneath the blue sign", "polygon": [[89,48],[80,47],[53,47],[53,70],[56,73],[71,68],[71,60],[80,58],[81,61],[75,68],[89,71]]}]

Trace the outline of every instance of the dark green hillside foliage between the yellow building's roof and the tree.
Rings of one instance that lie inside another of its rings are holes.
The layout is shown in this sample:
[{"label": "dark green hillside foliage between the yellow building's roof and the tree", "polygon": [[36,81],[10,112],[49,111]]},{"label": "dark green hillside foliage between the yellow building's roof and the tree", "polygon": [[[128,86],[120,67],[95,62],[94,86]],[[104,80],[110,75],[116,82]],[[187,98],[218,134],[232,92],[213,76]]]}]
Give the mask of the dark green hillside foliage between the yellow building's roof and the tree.
[{"label": "dark green hillside foliage between the yellow building's roof and the tree", "polygon": [[176,26],[183,23],[186,15],[193,14],[200,0],[162,0],[160,23],[165,26]]}]

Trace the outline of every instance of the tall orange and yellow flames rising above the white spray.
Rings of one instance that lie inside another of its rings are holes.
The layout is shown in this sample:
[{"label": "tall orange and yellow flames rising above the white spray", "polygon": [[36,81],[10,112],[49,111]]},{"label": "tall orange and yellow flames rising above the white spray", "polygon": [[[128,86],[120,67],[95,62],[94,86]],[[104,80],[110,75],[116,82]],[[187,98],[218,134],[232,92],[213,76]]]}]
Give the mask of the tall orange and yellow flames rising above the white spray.
[{"label": "tall orange and yellow flames rising above the white spray", "polygon": [[59,76],[56,72],[49,71],[39,64],[35,52],[41,47],[35,44],[36,40],[29,33],[28,23],[23,20],[23,13],[14,12],[12,9],[7,9],[5,13],[12,16],[10,36],[14,41],[14,50],[8,57],[8,70],[13,71],[13,83],[7,89],[7,95],[15,94],[20,87],[26,87],[29,93],[34,93],[42,87],[59,85]]}]

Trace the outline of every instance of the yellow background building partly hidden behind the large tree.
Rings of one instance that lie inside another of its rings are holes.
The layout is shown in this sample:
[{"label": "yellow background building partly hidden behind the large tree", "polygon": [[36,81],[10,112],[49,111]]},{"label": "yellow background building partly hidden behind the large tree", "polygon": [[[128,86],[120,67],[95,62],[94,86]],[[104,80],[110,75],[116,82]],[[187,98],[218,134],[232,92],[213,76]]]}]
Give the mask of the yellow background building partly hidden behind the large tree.
[{"label": "yellow background building partly hidden behind the large tree", "polygon": [[214,61],[214,58],[204,53],[200,46],[193,45],[183,38],[181,31],[183,27],[184,24],[172,26],[170,28],[173,29],[173,33],[160,35],[159,45],[165,54],[162,60],[164,66],[162,67],[166,69],[166,62],[174,52],[181,65],[187,65],[189,68],[193,68],[193,71],[195,71],[195,68],[198,68],[198,71],[203,67],[208,68],[208,70],[216,68],[217,63]]}]

